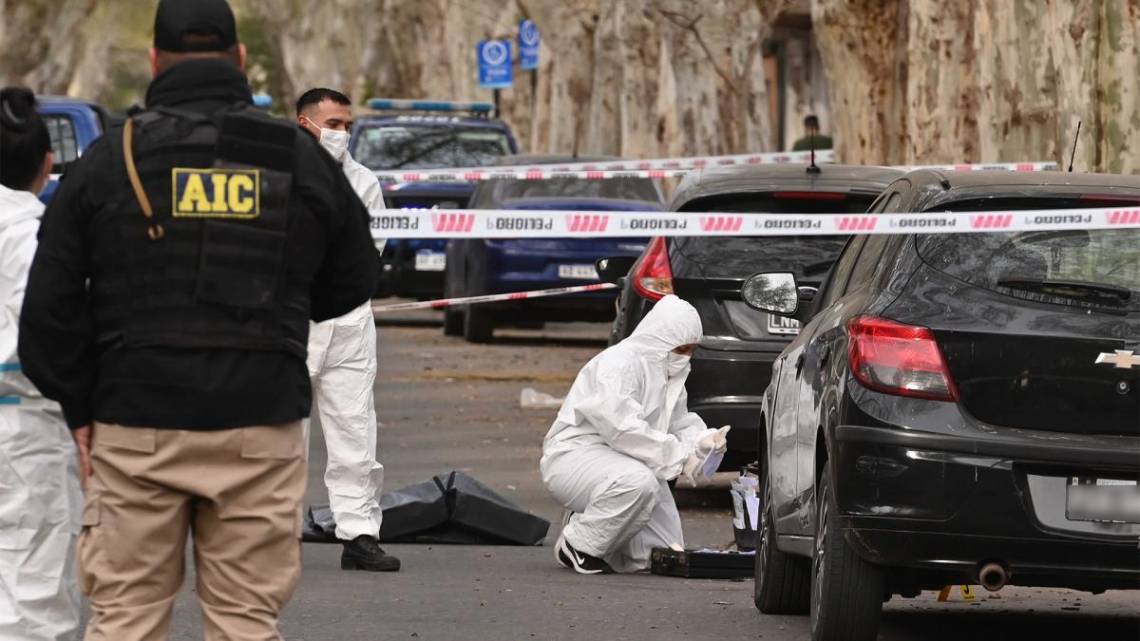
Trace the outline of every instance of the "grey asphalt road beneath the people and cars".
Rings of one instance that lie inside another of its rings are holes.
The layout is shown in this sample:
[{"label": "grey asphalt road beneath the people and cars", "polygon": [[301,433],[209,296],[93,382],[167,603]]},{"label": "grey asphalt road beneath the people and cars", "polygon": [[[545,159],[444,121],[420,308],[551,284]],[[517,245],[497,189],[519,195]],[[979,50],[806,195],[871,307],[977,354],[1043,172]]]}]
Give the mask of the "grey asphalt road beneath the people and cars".
[{"label": "grey asphalt road beneath the people and cars", "polygon": [[[560,508],[538,477],[542,438],[553,409],[522,409],[526,387],[561,396],[577,370],[604,347],[606,327],[548,326],[510,332],[472,347],[445,339],[431,314],[381,326],[377,407],[385,486],[397,488],[462,470],[551,520]],[[325,448],[314,430],[310,502],[326,503]],[[723,489],[684,497],[689,545],[732,539]],[[306,544],[304,571],[282,618],[290,640],[511,641],[808,638],[806,617],[763,616],[751,582],[686,581],[651,575],[583,577],[554,565],[551,547],[389,545],[399,574],[340,570],[340,546]],[[192,574],[192,573],[190,573]],[[1140,593],[1098,597],[1007,589],[935,594],[887,603],[882,640],[1140,639]],[[193,576],[181,594],[172,639],[201,639]]]}]

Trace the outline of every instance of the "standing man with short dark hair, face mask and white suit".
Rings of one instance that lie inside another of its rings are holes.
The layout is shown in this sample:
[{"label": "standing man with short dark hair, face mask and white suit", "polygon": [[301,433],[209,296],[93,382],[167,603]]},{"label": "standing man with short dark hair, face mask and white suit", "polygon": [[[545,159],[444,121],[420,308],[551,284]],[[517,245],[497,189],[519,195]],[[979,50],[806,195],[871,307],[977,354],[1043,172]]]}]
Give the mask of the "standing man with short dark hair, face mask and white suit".
[{"label": "standing man with short dark hair, face mask and white suit", "polygon": [[[341,164],[375,218],[384,209],[384,196],[376,175],[349,155],[352,103],[348,96],[310,89],[298,99],[296,114],[298,124]],[[383,249],[384,241],[376,238],[376,251]],[[378,269],[378,253],[376,263]],[[377,542],[384,466],[376,461],[376,324],[370,301],[309,328],[309,376],[328,451],[328,503],[336,520],[336,538],[344,545],[341,568],[397,571],[399,559],[385,553]],[[304,433],[309,433],[308,422]]]}]

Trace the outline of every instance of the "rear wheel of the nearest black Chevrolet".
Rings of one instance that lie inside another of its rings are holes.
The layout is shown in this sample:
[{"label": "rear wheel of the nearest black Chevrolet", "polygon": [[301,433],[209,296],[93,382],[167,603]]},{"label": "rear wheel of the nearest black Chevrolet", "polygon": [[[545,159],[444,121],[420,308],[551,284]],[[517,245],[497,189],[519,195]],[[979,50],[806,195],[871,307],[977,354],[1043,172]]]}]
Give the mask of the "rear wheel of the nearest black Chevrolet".
[{"label": "rear wheel of the nearest black Chevrolet", "polygon": [[826,469],[816,501],[812,641],[871,641],[879,634],[883,570],[863,560],[844,538]]}]

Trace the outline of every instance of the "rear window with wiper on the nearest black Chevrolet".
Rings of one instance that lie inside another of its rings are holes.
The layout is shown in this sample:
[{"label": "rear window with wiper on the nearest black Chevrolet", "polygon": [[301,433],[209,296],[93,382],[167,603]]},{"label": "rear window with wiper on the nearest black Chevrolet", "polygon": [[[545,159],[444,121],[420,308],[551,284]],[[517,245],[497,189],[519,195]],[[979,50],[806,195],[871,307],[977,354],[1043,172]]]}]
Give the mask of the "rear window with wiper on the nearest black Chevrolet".
[{"label": "rear window with wiper on the nearest black Chevrolet", "polygon": [[[1015,211],[1135,206],[1135,201],[1073,198],[986,198],[951,205],[938,211]],[[1016,298],[1034,298],[1033,283],[1066,282],[1127,290],[1121,303],[1140,309],[1140,229],[1011,232],[999,234],[948,234],[918,237],[918,251],[930,267],[972,285]],[[1080,300],[1083,294],[1074,290]],[[1037,297],[1066,302],[1065,297]],[[1090,299],[1092,300],[1092,299]]]}]

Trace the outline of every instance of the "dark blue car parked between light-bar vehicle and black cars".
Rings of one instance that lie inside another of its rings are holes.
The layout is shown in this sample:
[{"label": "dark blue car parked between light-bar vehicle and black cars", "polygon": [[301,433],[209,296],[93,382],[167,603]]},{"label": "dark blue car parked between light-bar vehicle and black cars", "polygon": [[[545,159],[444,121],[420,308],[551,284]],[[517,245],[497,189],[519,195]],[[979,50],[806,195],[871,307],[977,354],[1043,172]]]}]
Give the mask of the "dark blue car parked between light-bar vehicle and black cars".
[{"label": "dark blue car parked between light-bar vehicle and black cars", "polygon": [[[497,164],[537,167],[567,162],[618,159],[527,154],[504,156]],[[494,163],[492,163],[494,164]],[[484,180],[471,197],[471,209],[527,211],[568,210],[606,212],[660,212],[661,190],[649,178],[604,180],[553,178]],[[648,238],[475,238],[447,244],[447,298],[569,287],[597,283],[594,263],[603,257],[635,260]],[[471,342],[491,340],[504,325],[542,327],[547,320],[613,320],[612,291],[535,298],[522,301],[449,307],[443,313],[443,333],[463,335]]]}]

